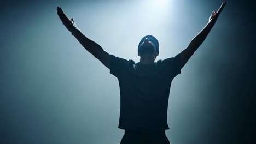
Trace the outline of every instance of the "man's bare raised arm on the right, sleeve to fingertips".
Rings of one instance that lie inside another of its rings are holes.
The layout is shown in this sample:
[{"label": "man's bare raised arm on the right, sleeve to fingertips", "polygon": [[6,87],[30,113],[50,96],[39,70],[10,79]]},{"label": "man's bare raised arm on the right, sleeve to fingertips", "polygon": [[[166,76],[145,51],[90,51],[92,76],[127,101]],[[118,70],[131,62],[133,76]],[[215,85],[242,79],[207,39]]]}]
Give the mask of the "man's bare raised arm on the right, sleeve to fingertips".
[{"label": "man's bare raised arm on the right, sleeve to fingertips", "polygon": [[213,11],[211,16],[209,17],[209,22],[202,29],[200,33],[198,33],[189,43],[188,47],[181,52],[181,64],[180,67],[188,62],[189,58],[194,54],[197,48],[203,43],[206,39],[208,33],[211,31],[212,27],[215,25],[220,13],[222,12],[226,2],[222,3],[218,11]]}]

